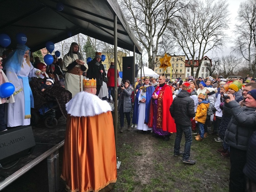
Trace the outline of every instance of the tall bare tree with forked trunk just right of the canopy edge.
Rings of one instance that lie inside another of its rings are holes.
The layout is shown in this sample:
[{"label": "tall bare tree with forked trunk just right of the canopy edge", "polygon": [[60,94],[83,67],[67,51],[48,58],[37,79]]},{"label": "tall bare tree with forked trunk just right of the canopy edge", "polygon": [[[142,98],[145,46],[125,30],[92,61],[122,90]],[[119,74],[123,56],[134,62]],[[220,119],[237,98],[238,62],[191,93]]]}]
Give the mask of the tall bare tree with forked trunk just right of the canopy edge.
[{"label": "tall bare tree with forked trunk just right of the canopy edge", "polygon": [[187,0],[119,0],[127,21],[147,51],[149,68],[154,70],[159,42],[170,20],[186,6]]}]

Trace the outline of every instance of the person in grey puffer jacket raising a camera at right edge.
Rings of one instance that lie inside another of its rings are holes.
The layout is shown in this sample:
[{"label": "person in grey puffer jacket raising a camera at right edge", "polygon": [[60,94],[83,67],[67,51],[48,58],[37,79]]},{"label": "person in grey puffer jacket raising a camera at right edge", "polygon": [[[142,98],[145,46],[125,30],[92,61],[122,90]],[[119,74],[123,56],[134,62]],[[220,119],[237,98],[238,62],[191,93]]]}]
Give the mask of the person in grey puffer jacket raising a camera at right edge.
[{"label": "person in grey puffer jacket raising a camera at right edge", "polygon": [[246,107],[241,107],[232,94],[228,96],[224,106],[232,113],[225,133],[225,141],[230,146],[229,191],[243,192],[246,191],[243,167],[246,164],[247,147],[256,131],[256,89],[247,93]]}]

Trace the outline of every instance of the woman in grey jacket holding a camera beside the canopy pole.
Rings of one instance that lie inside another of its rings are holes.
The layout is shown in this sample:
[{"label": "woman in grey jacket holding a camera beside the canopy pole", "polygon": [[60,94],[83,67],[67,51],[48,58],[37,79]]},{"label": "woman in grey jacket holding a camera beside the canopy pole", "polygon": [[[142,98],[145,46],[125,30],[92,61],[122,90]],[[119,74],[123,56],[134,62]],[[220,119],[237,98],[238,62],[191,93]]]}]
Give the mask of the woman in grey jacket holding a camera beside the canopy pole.
[{"label": "woman in grey jacket holding a camera beside the canopy pole", "polygon": [[119,100],[117,105],[117,110],[120,114],[120,133],[123,133],[123,126],[124,126],[124,115],[126,116],[127,120],[127,131],[131,130],[131,117],[130,112],[132,111],[132,88],[130,88],[130,81],[125,80],[124,84],[120,85],[120,94]]}]

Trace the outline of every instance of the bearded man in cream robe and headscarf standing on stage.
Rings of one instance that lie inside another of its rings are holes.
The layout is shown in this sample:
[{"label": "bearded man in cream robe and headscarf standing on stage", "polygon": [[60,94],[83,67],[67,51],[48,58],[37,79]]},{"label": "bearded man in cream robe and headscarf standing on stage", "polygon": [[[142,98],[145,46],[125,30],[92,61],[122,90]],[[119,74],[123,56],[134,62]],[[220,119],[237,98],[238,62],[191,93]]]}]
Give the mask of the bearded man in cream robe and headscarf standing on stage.
[{"label": "bearded man in cream robe and headscarf standing on stage", "polygon": [[83,90],[83,72],[86,72],[88,65],[83,61],[79,52],[79,45],[73,42],[69,52],[64,56],[63,71],[66,71],[65,89],[69,90],[74,97]]}]

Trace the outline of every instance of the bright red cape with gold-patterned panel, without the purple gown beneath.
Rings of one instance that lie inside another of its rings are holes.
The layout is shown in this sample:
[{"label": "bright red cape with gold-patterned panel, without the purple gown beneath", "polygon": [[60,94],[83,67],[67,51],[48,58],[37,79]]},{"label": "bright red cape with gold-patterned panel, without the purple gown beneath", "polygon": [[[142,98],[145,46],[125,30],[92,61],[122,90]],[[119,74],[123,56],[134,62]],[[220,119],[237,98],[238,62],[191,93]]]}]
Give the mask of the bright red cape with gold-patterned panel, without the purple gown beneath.
[{"label": "bright red cape with gold-patterned panel, without the purple gown beneath", "polygon": [[[159,91],[159,86],[154,90],[154,93]],[[154,95],[153,93],[153,95]],[[159,92],[157,97],[157,123],[156,128],[160,128],[163,131],[168,131],[169,133],[176,133],[176,124],[170,114],[170,106],[172,105],[172,89],[169,85],[164,85]],[[153,102],[151,99],[150,113],[149,113],[149,127],[153,127]]]}]

